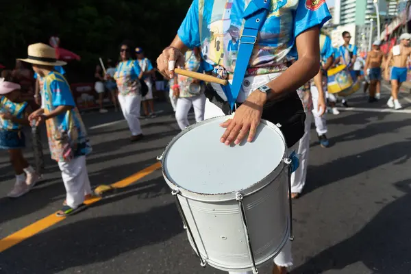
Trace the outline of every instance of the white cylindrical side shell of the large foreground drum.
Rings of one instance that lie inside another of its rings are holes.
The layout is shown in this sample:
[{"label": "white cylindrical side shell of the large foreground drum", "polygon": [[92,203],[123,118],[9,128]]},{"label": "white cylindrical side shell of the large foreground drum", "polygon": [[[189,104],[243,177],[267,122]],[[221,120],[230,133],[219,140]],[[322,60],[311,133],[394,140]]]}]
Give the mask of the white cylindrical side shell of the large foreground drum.
[{"label": "white cylindrical side shell of the large foreground drum", "polygon": [[[172,189],[176,186],[169,182]],[[243,197],[249,238],[256,265],[271,260],[284,247],[289,234],[288,167],[281,163],[264,182]],[[201,253],[210,266],[223,271],[252,271],[245,226],[236,199],[210,201],[199,195],[177,195]],[[205,195],[210,196],[210,195]],[[227,193],[227,197],[233,197]],[[262,212],[264,212],[262,214]],[[188,239],[195,250],[194,242]]]}]

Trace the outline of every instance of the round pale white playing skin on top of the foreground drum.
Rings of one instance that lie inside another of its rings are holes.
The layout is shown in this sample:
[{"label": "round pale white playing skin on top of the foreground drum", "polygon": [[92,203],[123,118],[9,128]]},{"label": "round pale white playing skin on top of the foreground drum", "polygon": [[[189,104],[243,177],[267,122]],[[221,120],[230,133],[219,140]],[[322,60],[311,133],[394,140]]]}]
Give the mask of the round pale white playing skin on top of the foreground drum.
[{"label": "round pale white playing skin on top of the foreground drum", "polygon": [[262,121],[253,142],[226,146],[220,123],[227,116],[188,127],[164,151],[163,171],[170,182],[190,192],[217,195],[257,184],[275,171],[286,145],[278,127]]}]

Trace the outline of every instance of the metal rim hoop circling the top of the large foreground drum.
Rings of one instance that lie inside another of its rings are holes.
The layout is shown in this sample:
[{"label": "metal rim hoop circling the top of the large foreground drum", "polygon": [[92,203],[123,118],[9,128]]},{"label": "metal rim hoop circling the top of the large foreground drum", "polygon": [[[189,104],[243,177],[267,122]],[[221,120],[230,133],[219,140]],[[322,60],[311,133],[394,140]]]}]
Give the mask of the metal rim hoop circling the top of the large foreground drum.
[{"label": "metal rim hoop circling the top of the large foreground drum", "polygon": [[[199,193],[199,192],[194,192],[194,191],[191,191],[191,190],[187,190],[186,188],[182,188],[182,186],[179,186],[179,184],[174,182],[173,179],[171,179],[169,177],[169,174],[167,174],[166,171],[165,171],[165,159],[166,159],[166,155],[167,155],[168,151],[170,150],[172,145],[181,136],[183,136],[184,134],[186,134],[190,130],[194,129],[195,127],[198,127],[201,124],[211,123],[214,120],[221,119],[221,117],[223,117],[223,116],[213,117],[211,119],[207,119],[207,120],[201,121],[199,123],[195,123],[195,124],[192,124],[192,125],[188,126],[186,129],[184,129],[182,132],[179,132],[179,134],[177,134],[176,136],[174,136],[171,139],[169,144],[164,149],[164,152],[162,153],[162,167],[161,167],[161,169],[162,169],[163,177],[166,180],[166,183],[173,190],[180,190],[180,191],[184,192],[184,194],[189,194],[187,196],[183,195],[184,197],[186,197],[188,199],[192,199],[192,200],[195,200],[195,201],[232,201],[232,200],[236,199],[236,193],[237,192],[242,192],[242,195],[244,197],[249,196],[249,195],[252,195],[255,192],[258,192],[259,190],[261,190],[262,188],[264,188],[265,186],[267,186],[271,182],[275,181],[275,179],[277,179],[277,177],[284,171],[284,168],[286,167],[286,164],[284,163],[283,160],[284,160],[284,158],[286,158],[286,153],[288,151],[288,147],[287,147],[287,144],[286,144],[286,139],[284,138],[284,134],[282,133],[281,129],[279,129],[279,127],[277,127],[276,125],[274,125],[270,121],[261,119],[260,123],[262,123],[263,125],[267,125],[267,126],[271,127],[272,129],[274,129],[275,132],[277,132],[277,134],[279,134],[279,136],[282,138],[282,141],[284,143],[284,153],[282,155],[282,160],[277,164],[276,168],[273,169],[273,171],[271,171],[271,173],[266,175],[266,177],[260,179],[260,181],[252,184],[251,186],[248,186],[248,188],[238,190],[238,191],[233,191],[233,192],[204,194],[204,193]],[[229,118],[229,115],[226,115],[225,117]],[[267,182],[265,184],[261,184],[264,181],[267,181]],[[261,184],[261,186],[259,186],[260,184]]]}]

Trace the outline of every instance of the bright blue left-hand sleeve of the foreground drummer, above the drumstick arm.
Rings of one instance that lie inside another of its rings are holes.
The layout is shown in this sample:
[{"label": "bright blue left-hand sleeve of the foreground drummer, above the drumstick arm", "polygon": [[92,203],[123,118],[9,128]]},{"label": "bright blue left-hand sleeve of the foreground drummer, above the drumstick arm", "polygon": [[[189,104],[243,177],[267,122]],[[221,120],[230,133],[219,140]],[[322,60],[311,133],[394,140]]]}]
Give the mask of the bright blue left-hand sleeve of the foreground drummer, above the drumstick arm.
[{"label": "bright blue left-hand sleeve of the foreground drummer, above the drumstick arm", "polygon": [[199,0],[192,1],[186,18],[184,18],[182,25],[178,29],[177,35],[186,47],[190,49],[199,47]]}]

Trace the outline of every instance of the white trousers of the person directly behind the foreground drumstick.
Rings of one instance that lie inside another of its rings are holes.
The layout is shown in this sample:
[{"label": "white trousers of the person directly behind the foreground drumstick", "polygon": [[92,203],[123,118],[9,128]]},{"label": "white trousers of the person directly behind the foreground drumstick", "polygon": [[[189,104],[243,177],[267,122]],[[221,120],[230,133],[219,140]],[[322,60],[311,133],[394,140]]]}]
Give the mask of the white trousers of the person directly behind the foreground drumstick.
[{"label": "white trousers of the person directly behind the foreground drumstick", "polygon": [[175,119],[180,129],[185,129],[190,125],[188,123],[188,112],[191,106],[194,108],[195,121],[204,120],[204,108],[206,105],[206,95],[201,94],[193,97],[184,97],[177,99],[177,105],[175,106]]}]

